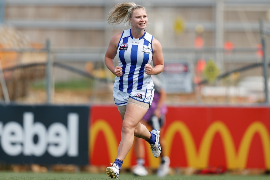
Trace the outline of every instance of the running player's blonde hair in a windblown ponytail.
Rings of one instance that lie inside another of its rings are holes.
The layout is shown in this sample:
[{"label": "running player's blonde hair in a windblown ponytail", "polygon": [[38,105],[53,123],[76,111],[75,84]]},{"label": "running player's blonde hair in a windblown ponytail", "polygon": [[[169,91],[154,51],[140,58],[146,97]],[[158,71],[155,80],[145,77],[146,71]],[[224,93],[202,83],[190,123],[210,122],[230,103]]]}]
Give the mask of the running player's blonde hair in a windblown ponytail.
[{"label": "running player's blonde hair in a windblown ponytail", "polygon": [[133,11],[137,9],[143,9],[146,11],[145,7],[132,2],[118,3],[110,10],[107,23],[118,25],[124,21],[126,25],[128,18],[131,18]]}]

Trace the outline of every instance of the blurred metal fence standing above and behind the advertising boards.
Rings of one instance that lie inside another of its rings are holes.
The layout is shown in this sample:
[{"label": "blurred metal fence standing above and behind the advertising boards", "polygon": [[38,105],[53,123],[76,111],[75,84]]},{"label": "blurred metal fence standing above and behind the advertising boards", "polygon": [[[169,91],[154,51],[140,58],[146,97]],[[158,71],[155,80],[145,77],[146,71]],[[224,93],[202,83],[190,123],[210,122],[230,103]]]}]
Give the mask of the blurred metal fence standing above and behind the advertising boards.
[{"label": "blurred metal fence standing above and behind the advertising boards", "polygon": [[[268,103],[265,34],[257,48],[164,48],[165,68],[158,76],[167,103]],[[113,103],[105,51],[51,48],[49,40],[39,49],[0,48],[1,102]]]}]

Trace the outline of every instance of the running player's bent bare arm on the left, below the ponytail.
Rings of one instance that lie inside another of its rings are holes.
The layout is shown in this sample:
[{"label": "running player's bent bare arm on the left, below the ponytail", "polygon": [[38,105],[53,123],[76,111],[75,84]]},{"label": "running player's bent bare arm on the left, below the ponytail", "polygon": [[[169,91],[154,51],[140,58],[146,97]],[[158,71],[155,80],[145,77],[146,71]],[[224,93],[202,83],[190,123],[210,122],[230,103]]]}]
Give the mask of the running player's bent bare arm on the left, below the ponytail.
[{"label": "running player's bent bare arm on the left, below the ponytail", "polygon": [[107,48],[106,54],[105,54],[105,64],[107,68],[117,77],[120,77],[123,75],[122,68],[119,66],[114,65],[114,58],[117,54],[117,45],[121,38],[122,33],[118,33],[112,37],[110,40],[109,46]]}]

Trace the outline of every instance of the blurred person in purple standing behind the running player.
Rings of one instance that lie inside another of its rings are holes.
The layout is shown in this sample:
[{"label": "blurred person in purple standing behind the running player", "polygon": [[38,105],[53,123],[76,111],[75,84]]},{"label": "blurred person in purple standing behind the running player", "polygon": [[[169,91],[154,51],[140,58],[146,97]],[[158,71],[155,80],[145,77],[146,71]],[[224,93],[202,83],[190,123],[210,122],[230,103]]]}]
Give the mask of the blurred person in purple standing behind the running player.
[{"label": "blurred person in purple standing behind the running player", "polygon": [[[145,126],[151,126],[150,128],[157,129],[160,133],[163,133],[163,126],[165,124],[165,115],[167,113],[167,106],[165,104],[166,91],[163,88],[162,82],[152,75],[152,79],[155,86],[155,94],[152,102],[152,106],[148,109],[147,113],[143,116],[141,123]],[[169,173],[170,158],[164,156],[165,140],[164,136],[159,138],[162,151],[160,154],[160,165],[157,171],[158,177],[164,177]],[[137,158],[137,165],[133,169],[133,174],[138,176],[148,175],[148,171],[144,167],[145,163],[145,151],[144,151],[143,139],[134,138],[134,150]]]}]

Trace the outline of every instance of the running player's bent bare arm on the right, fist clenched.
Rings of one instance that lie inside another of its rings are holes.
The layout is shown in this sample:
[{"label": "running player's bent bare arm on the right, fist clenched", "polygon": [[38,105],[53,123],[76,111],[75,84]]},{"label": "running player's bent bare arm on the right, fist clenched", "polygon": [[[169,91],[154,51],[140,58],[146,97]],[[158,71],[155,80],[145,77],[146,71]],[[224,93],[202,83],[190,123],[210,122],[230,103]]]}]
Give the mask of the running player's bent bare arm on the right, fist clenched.
[{"label": "running player's bent bare arm on the right, fist clenched", "polygon": [[146,64],[144,67],[144,72],[148,75],[158,75],[164,69],[164,58],[163,51],[160,42],[153,38],[153,66]]}]

